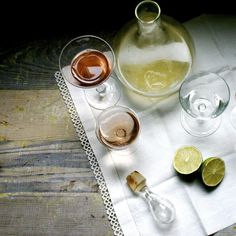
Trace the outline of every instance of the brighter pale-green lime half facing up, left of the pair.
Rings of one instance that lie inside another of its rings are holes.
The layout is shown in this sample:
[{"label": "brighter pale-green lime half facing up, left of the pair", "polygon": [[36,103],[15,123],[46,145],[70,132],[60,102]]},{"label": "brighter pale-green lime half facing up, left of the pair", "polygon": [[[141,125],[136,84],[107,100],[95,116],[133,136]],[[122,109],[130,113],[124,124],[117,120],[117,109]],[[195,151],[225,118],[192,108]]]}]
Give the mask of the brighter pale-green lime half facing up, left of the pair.
[{"label": "brighter pale-green lime half facing up, left of the pair", "polygon": [[178,149],[173,160],[175,170],[184,175],[194,173],[201,164],[202,154],[193,146],[185,146]]}]

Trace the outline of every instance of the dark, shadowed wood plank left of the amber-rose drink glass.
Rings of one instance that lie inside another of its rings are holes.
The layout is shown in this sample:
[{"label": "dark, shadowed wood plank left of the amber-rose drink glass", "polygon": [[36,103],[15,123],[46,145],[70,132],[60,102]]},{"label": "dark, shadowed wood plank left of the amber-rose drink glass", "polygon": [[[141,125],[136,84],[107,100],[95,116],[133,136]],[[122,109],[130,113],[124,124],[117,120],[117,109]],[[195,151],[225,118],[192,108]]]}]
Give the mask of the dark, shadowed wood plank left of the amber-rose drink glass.
[{"label": "dark, shadowed wood plank left of the amber-rose drink glass", "polygon": [[0,51],[1,89],[56,89],[54,72],[64,40],[25,42]]}]

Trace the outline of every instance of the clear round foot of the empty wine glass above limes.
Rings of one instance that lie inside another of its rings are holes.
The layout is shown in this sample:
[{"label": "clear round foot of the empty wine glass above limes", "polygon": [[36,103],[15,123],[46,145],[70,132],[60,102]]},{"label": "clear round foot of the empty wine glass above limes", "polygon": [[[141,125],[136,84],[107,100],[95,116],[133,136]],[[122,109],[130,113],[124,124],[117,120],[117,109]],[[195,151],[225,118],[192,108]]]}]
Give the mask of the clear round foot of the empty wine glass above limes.
[{"label": "clear round foot of the empty wine glass above limes", "polygon": [[219,128],[221,123],[221,116],[216,117],[215,119],[197,119],[189,117],[189,115],[181,113],[181,125],[184,130],[195,137],[206,137]]}]

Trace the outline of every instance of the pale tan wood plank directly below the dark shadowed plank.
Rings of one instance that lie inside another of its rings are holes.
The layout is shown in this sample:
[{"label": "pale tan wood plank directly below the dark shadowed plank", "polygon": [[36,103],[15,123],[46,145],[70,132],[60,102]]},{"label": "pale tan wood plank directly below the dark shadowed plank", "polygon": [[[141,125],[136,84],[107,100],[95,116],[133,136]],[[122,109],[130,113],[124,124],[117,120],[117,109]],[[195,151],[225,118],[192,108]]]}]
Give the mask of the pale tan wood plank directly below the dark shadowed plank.
[{"label": "pale tan wood plank directly below the dark shadowed plank", "polygon": [[0,90],[0,141],[71,137],[77,139],[58,90]]}]

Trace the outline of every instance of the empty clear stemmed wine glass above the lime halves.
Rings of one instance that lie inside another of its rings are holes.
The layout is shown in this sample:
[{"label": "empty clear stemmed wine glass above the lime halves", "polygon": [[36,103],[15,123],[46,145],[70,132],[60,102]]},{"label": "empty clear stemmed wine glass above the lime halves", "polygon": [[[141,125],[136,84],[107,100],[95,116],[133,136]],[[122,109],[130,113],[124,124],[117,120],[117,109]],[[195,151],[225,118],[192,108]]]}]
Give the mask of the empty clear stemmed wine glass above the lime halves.
[{"label": "empty clear stemmed wine glass above the lime halves", "polygon": [[220,126],[221,114],[229,99],[229,87],[218,74],[201,72],[190,76],[179,90],[183,128],[197,137],[214,133]]}]

